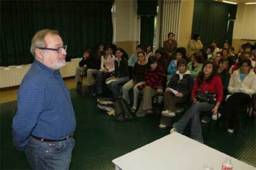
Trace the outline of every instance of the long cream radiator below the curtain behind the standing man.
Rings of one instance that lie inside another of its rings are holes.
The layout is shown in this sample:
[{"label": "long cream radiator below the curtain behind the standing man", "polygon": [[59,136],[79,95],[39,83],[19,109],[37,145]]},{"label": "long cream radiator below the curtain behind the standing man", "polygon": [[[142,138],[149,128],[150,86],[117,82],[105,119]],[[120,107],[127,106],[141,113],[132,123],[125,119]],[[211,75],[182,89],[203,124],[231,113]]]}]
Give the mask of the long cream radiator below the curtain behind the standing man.
[{"label": "long cream radiator below the curtain behind the standing man", "polygon": [[[72,59],[60,69],[62,78],[75,76],[75,68],[79,65],[79,59]],[[0,88],[19,86],[23,77],[32,64],[0,67]]]}]

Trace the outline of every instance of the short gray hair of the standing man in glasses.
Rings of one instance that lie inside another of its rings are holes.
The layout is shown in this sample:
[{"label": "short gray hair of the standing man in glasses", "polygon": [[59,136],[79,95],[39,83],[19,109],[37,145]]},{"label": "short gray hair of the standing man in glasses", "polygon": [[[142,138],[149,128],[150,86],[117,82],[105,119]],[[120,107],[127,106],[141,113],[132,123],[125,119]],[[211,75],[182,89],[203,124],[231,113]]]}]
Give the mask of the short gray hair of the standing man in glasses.
[{"label": "short gray hair of the standing man in glasses", "polygon": [[35,56],[36,47],[46,47],[45,36],[47,34],[59,35],[58,31],[56,30],[45,29],[45,30],[37,31],[31,41],[30,52],[32,53],[32,55]]}]

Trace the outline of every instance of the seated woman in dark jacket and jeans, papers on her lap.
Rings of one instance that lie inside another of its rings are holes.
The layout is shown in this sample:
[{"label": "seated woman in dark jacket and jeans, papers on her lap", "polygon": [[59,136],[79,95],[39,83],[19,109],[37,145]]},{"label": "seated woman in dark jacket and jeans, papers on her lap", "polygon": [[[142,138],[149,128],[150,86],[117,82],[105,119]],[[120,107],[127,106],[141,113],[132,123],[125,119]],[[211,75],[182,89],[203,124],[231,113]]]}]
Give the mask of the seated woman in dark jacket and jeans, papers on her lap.
[{"label": "seated woman in dark jacket and jeans, papers on her lap", "polygon": [[116,60],[114,61],[114,76],[106,79],[106,84],[113,92],[114,99],[121,97],[122,84],[129,81],[128,61],[124,57],[124,49],[116,49]]}]

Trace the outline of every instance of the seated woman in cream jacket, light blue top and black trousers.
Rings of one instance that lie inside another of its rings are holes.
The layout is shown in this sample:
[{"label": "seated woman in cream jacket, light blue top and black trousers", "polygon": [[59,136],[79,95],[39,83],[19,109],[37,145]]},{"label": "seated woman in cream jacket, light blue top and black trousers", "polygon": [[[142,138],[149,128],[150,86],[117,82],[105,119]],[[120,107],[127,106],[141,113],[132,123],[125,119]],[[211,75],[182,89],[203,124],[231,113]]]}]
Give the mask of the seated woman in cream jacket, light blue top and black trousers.
[{"label": "seated woman in cream jacket, light blue top and black trousers", "polygon": [[251,70],[251,62],[244,59],[239,62],[240,68],[231,75],[228,91],[231,96],[225,102],[224,115],[228,120],[228,132],[238,129],[238,114],[244,105],[252,101],[256,93],[256,75]]}]

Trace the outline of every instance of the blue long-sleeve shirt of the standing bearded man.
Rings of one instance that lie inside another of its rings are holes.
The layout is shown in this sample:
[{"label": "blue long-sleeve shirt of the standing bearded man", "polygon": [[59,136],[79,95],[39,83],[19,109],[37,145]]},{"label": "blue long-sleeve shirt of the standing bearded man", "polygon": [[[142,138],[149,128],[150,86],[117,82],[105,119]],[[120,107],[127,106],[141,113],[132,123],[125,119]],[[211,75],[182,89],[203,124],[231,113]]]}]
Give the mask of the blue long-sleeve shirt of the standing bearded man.
[{"label": "blue long-sleeve shirt of the standing bearded man", "polygon": [[37,60],[20,84],[17,104],[12,128],[19,150],[27,147],[30,136],[58,140],[75,131],[75,113],[61,74]]}]

